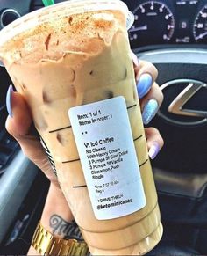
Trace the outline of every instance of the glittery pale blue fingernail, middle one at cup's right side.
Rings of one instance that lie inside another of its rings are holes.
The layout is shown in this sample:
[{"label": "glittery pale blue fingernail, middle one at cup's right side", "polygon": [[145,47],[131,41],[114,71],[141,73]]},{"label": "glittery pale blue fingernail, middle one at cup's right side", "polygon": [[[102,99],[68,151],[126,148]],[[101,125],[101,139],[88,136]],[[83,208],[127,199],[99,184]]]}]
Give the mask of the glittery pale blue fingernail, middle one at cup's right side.
[{"label": "glittery pale blue fingernail, middle one at cup's right side", "polygon": [[156,99],[150,99],[146,102],[142,112],[142,120],[144,124],[148,124],[158,111],[158,102]]}]

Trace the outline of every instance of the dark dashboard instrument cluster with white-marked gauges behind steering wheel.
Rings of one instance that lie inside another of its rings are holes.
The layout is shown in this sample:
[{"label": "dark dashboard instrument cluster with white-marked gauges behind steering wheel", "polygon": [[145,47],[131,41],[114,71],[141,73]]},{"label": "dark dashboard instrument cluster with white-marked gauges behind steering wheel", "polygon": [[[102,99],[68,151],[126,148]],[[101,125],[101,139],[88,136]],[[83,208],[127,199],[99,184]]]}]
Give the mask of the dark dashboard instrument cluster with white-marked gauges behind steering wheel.
[{"label": "dark dashboard instrument cluster with white-marked gauges behind steering wheel", "polygon": [[162,44],[206,44],[207,0],[125,0],[134,15],[132,48]]}]

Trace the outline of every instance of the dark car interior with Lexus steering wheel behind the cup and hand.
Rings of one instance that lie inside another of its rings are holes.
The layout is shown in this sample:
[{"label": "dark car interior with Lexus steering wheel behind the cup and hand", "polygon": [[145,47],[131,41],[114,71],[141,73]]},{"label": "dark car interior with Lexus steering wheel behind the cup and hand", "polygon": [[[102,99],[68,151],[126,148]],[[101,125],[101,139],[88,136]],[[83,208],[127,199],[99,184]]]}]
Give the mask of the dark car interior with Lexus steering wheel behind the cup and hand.
[{"label": "dark car interior with Lexus steering wheel behind the cup and hand", "polygon": [[[152,161],[164,233],[147,255],[207,255],[207,0],[124,2],[134,15],[132,51],[158,69],[164,94],[148,125],[165,142]],[[41,0],[1,0],[0,29],[42,7]],[[4,128],[11,79],[3,66],[0,77],[0,254],[23,255],[49,182]]]}]

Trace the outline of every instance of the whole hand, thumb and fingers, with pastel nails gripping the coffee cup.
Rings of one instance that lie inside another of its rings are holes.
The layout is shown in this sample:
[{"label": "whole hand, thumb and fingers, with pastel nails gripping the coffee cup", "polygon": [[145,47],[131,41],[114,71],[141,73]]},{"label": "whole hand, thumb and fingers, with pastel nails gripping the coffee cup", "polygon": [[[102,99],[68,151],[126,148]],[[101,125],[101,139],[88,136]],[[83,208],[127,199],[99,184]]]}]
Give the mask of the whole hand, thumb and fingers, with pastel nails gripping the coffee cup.
[{"label": "whole hand, thumb and fingers, with pastel nails gripping the coffee cup", "polygon": [[[149,62],[138,63],[135,56],[134,72],[143,122],[148,124],[153,119],[159,106],[161,106],[163,99],[160,87],[154,82],[157,77],[157,70]],[[25,156],[32,160],[56,187],[59,187],[57,178],[46,157],[45,150],[39,142],[39,135],[34,135],[32,115],[25,99],[18,92],[12,91],[12,86],[10,86],[6,101],[7,109],[10,113],[6,121],[7,131],[18,141]],[[153,159],[161,150],[163,140],[156,128],[146,128],[145,130],[149,156]]]}]

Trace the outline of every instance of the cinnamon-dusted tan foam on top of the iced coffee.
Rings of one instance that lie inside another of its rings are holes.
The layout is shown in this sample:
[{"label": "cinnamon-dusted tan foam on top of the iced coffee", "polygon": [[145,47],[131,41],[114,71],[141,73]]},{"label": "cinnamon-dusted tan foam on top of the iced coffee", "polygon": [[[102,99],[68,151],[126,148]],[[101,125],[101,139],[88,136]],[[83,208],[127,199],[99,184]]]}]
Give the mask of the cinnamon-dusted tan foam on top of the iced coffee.
[{"label": "cinnamon-dusted tan foam on top of the iced coffee", "polygon": [[89,11],[68,17],[48,19],[18,33],[2,47],[12,62],[57,61],[67,53],[96,55],[125,24],[121,11]]}]

